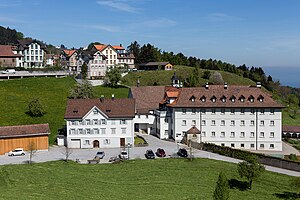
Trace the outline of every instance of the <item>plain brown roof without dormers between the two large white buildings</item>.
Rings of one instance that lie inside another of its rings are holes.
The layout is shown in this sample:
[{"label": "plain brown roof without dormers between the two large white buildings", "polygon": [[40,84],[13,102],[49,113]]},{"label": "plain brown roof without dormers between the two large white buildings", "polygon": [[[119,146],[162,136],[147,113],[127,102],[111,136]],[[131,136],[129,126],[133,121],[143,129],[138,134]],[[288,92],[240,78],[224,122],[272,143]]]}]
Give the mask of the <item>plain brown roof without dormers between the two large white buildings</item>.
[{"label": "plain brown roof without dormers between the two large white buildings", "polygon": [[132,87],[130,91],[136,102],[137,113],[148,113],[159,108],[159,102],[164,99],[165,86]]}]

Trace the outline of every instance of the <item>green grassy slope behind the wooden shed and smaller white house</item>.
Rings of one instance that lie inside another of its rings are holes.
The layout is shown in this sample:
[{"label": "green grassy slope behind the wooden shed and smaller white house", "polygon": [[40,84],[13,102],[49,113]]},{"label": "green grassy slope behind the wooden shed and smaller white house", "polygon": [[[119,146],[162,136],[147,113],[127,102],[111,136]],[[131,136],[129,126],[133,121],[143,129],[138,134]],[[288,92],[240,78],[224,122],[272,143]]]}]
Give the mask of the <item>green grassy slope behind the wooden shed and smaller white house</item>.
[{"label": "green grassy slope behind the wooden shed and smaller white house", "polygon": [[[54,144],[58,129],[65,125],[69,91],[75,86],[73,78],[26,78],[0,81],[0,126],[49,123],[50,144]],[[95,87],[95,96],[127,97],[128,88]],[[30,99],[37,97],[46,107],[46,114],[32,118],[25,114]]]}]

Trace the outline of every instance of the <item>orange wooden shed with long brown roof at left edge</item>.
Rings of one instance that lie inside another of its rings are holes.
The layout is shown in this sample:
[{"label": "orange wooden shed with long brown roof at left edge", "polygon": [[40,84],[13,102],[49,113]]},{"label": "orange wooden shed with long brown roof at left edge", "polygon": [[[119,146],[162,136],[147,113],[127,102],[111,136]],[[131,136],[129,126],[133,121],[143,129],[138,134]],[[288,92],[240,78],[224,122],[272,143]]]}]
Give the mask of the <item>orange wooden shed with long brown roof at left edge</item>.
[{"label": "orange wooden shed with long brown roof at left edge", "polygon": [[48,124],[33,124],[20,126],[0,127],[0,155],[8,153],[15,148],[28,150],[30,144],[36,150],[48,150]]}]

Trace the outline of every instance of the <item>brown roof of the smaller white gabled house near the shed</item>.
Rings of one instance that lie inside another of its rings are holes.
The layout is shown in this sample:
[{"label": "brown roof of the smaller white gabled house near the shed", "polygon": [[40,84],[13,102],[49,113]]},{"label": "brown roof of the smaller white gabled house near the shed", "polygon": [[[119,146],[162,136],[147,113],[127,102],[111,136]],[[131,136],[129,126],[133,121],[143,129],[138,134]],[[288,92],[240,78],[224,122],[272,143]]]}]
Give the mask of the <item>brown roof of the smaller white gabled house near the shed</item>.
[{"label": "brown roof of the smaller white gabled house near the shed", "polygon": [[65,119],[81,119],[94,106],[109,118],[134,118],[135,115],[135,100],[134,99],[69,99]]}]

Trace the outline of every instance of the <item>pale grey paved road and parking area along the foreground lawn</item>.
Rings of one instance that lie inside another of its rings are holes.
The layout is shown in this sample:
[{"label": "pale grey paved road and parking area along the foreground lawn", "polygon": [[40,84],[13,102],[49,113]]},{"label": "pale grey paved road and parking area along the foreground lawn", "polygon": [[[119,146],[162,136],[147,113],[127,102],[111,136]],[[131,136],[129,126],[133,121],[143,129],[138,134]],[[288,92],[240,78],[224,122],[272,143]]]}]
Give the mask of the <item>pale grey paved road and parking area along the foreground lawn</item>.
[{"label": "pale grey paved road and parking area along the foreground lawn", "polygon": [[[129,157],[130,159],[146,159],[144,154],[147,149],[152,149],[156,151],[157,148],[163,148],[166,152],[167,157],[176,157],[176,152],[179,148],[188,148],[183,144],[176,144],[174,142],[160,140],[154,136],[143,135],[145,140],[148,142],[149,146],[147,147],[133,147],[129,149]],[[52,146],[49,151],[39,151],[34,154],[33,161],[34,162],[47,162],[53,160],[62,160],[65,158],[64,147]],[[96,152],[99,149],[72,149],[72,154],[70,155],[71,160],[79,159],[81,163],[86,163],[88,159],[94,158]],[[101,160],[101,163],[108,163],[108,160],[112,156],[117,156],[122,149],[120,148],[108,148],[102,149],[105,152],[104,159]],[[126,149],[128,150],[128,149]],[[210,153],[207,151],[201,151],[198,149],[192,149],[192,153],[197,158],[209,158],[214,160],[221,160],[232,163],[239,163],[241,160],[221,156],[219,154]],[[29,155],[25,156],[15,156],[9,157],[7,155],[0,156],[0,165],[6,164],[22,164],[29,160]],[[281,174],[287,174],[290,176],[300,176],[300,172],[290,171],[286,169],[266,166],[268,171],[277,172]]]}]

